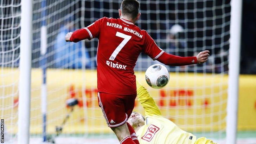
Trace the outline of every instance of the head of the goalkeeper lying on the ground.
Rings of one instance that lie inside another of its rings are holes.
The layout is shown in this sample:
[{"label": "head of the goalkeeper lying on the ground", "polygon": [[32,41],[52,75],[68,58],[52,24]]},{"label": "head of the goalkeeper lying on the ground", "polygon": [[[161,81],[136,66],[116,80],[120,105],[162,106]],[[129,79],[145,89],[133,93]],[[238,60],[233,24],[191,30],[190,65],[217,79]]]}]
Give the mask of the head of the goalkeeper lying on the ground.
[{"label": "head of the goalkeeper lying on the ground", "polygon": [[145,117],[138,112],[133,112],[128,118],[127,122],[133,127],[135,131],[138,131],[145,123]]}]

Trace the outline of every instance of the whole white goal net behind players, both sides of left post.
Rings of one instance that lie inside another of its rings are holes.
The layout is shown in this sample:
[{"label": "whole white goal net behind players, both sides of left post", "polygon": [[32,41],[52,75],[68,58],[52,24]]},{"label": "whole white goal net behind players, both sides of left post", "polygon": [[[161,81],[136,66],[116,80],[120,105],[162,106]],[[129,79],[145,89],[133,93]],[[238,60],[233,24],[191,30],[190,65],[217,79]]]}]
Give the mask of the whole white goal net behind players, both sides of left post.
[{"label": "whole white goal net behind players, both sides of left post", "polygon": [[[78,43],[67,43],[64,39],[66,33],[99,18],[119,18],[121,2],[33,0],[32,138],[39,138],[40,142],[47,134],[46,139],[54,139],[56,126],[62,126],[62,132],[55,138],[57,143],[63,143],[61,138],[66,137],[80,137],[81,141],[76,143],[91,138],[115,139],[97,102],[98,39]],[[142,53],[135,67],[137,80],[148,89],[162,115],[181,129],[217,142],[225,138],[230,0],[140,0],[140,4],[141,18],[136,25],[146,30],[165,52],[194,56],[209,50],[210,57],[205,64],[166,66],[171,73],[169,84],[154,90],[146,84],[144,74],[147,67],[159,62]],[[20,35],[20,0],[2,0],[0,18],[0,114],[9,139],[15,140],[19,38],[25,37]],[[43,35],[41,27],[45,25],[46,35]],[[45,52],[40,48],[41,37],[47,39]],[[43,83],[46,89],[42,89]],[[42,94],[47,96],[45,130]],[[78,99],[73,110],[66,105],[70,98]],[[134,111],[143,113],[137,100]]]}]

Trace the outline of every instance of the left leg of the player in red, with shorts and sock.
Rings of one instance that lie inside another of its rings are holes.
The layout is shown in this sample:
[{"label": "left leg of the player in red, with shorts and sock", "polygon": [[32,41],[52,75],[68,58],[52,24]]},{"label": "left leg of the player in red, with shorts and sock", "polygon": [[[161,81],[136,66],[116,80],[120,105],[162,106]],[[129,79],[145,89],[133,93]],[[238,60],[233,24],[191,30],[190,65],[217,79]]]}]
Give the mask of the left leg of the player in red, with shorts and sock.
[{"label": "left leg of the player in red, with shorts and sock", "polygon": [[123,95],[98,93],[99,105],[107,125],[114,131],[121,144],[135,144],[126,124]]}]

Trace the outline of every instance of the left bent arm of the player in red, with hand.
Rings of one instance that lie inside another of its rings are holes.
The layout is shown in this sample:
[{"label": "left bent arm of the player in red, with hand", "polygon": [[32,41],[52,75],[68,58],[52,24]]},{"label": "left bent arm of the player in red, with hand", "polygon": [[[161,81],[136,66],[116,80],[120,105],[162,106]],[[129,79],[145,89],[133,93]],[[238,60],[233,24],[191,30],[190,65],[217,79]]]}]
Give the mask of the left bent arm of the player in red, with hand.
[{"label": "left bent arm of the player in red, with hand", "polygon": [[101,26],[105,19],[106,17],[98,19],[97,21],[85,28],[81,28],[79,30],[76,30],[75,32],[69,32],[68,34],[66,34],[65,40],[67,42],[78,42],[84,39],[97,38],[100,34]]}]

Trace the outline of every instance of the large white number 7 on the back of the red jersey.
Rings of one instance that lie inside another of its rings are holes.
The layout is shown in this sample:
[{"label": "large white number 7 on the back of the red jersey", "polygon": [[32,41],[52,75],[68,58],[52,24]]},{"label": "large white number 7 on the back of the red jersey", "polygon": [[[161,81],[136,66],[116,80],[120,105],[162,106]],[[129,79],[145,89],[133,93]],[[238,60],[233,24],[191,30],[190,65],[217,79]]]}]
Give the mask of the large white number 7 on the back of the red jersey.
[{"label": "large white number 7 on the back of the red jersey", "polygon": [[126,43],[132,38],[132,36],[120,32],[116,32],[116,36],[123,38],[124,40],[119,44],[119,46],[116,47],[115,51],[111,54],[109,60],[114,60],[116,58],[116,55],[122,50],[124,45],[126,45]]}]

